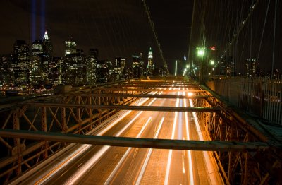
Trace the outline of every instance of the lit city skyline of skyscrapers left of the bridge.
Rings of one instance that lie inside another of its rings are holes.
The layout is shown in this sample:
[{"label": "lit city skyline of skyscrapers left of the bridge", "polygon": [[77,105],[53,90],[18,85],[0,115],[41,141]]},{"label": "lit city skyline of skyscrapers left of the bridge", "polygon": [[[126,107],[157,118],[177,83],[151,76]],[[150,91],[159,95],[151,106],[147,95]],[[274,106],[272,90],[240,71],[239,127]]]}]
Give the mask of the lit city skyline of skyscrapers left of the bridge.
[{"label": "lit city skyline of skyscrapers left of the bridge", "polygon": [[[143,54],[133,54],[130,60],[121,58],[99,58],[99,49],[90,48],[86,55],[78,44],[69,38],[65,40],[63,56],[54,56],[53,44],[48,32],[42,40],[35,40],[31,45],[25,40],[16,40],[11,54],[1,55],[0,85],[6,93],[39,93],[53,89],[56,85],[93,85],[96,83],[115,82],[131,78],[158,75],[154,68],[152,48],[149,47],[149,60],[143,60]],[[145,68],[147,63],[147,68]],[[164,70],[162,68],[161,70]],[[164,71],[161,71],[164,75]],[[18,90],[27,89],[27,90]],[[7,91],[8,90],[8,91]]]}]

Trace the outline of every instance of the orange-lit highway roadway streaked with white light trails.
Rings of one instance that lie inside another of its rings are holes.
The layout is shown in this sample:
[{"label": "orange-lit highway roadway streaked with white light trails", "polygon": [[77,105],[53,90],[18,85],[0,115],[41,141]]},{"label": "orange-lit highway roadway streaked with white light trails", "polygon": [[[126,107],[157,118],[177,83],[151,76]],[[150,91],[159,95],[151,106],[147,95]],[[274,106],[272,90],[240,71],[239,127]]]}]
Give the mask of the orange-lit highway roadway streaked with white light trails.
[{"label": "orange-lit highway roadway streaked with white light trails", "polygon": [[[184,95],[181,90],[168,94]],[[135,105],[188,107],[192,106],[192,101],[142,98]],[[121,111],[103,126],[99,126],[93,134],[202,140],[197,118],[190,112]],[[20,183],[220,184],[206,152],[78,144],[72,146]]]}]

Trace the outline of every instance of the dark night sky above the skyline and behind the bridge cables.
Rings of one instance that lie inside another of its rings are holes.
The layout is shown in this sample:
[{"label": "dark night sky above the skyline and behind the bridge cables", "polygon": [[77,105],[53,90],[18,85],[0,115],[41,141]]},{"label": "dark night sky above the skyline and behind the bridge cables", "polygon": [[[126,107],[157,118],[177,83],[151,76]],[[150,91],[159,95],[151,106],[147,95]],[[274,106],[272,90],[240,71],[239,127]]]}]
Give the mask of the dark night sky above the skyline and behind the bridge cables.
[{"label": "dark night sky above the skyline and behind the bridge cables", "polygon": [[[174,61],[188,56],[189,46],[190,57],[195,57],[195,47],[203,43],[202,33],[206,46],[216,46],[216,55],[221,56],[251,6],[249,0],[196,2],[189,44],[193,1],[146,1],[171,73],[174,71]],[[277,5],[274,54],[275,1],[271,1],[269,6],[262,34],[267,2],[259,2],[252,22],[249,20],[246,23],[235,42],[236,47],[228,52],[234,57],[238,72],[243,70],[245,60],[250,56],[259,56],[259,65],[265,71],[270,70],[269,64],[274,56],[274,68],[282,70],[282,47],[279,47],[282,42],[281,1]],[[13,52],[15,40],[26,40],[31,44],[35,39],[42,39],[47,30],[54,45],[54,56],[63,56],[64,41],[73,37],[78,49],[83,49],[85,54],[90,48],[97,48],[99,59],[111,61],[116,56],[130,61],[132,54],[142,52],[147,62],[147,53],[152,47],[154,63],[157,67],[163,65],[141,0],[3,0],[0,1],[0,23],[0,54]]]}]

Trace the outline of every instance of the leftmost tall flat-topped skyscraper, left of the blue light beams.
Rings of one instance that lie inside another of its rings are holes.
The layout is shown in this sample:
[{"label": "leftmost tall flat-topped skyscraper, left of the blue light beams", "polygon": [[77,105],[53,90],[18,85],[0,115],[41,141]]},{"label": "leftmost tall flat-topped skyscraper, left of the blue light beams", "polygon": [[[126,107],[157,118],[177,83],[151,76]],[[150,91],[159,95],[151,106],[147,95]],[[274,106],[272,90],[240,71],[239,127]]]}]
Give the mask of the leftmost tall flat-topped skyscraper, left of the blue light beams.
[{"label": "leftmost tall flat-topped skyscraper, left of the blue light beams", "polygon": [[18,85],[29,83],[30,73],[30,51],[24,40],[16,40],[13,45],[13,74]]}]

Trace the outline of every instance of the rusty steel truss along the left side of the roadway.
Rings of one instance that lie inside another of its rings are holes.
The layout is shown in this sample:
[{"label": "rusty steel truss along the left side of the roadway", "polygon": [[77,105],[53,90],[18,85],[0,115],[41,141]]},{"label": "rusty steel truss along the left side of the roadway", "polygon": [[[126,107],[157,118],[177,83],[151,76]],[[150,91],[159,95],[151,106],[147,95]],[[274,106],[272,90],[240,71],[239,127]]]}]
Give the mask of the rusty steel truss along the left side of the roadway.
[{"label": "rusty steel truss along the left side of the roadway", "polygon": [[[91,90],[93,93],[101,93],[99,90]],[[118,97],[119,98],[119,97]],[[47,98],[51,103],[76,103],[82,104],[94,104],[100,103],[108,105],[111,103],[127,105],[133,102],[136,98],[107,98],[107,97],[82,97],[76,95],[54,95],[51,99]],[[44,100],[43,98],[36,98],[37,101]],[[121,101],[122,100],[122,101]],[[30,105],[16,104],[16,109],[11,106],[10,114],[4,120],[4,124],[1,125],[2,129],[11,128],[9,124],[13,123],[14,129],[27,129],[29,131],[61,131],[63,133],[80,133],[84,134],[87,131],[92,130],[95,126],[102,123],[104,120],[115,114],[116,110],[102,110],[83,107],[34,107],[32,102],[35,100],[29,100]],[[42,101],[41,101],[42,102]],[[121,103],[122,102],[122,103]],[[7,110],[8,111],[8,110]],[[31,114],[32,113],[32,114]],[[3,123],[3,122],[2,122]],[[6,138],[0,137],[0,143],[3,143],[6,150],[11,153],[11,156],[7,156],[0,162],[0,169],[5,168],[5,172],[0,173],[0,179],[5,176],[5,181],[10,178],[20,175],[26,169],[37,165],[38,162],[44,160],[52,153],[60,150],[66,143],[60,142],[40,142],[28,141],[26,139],[14,138],[14,142],[7,142]],[[10,140],[11,141],[11,140]],[[27,142],[34,142],[32,145],[27,145]]]}]

